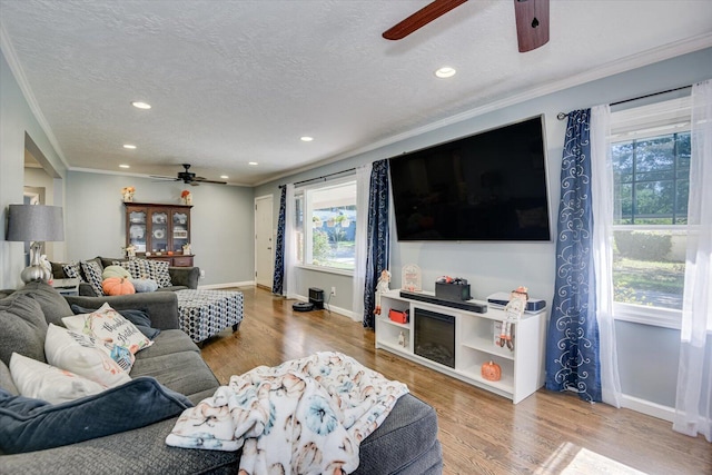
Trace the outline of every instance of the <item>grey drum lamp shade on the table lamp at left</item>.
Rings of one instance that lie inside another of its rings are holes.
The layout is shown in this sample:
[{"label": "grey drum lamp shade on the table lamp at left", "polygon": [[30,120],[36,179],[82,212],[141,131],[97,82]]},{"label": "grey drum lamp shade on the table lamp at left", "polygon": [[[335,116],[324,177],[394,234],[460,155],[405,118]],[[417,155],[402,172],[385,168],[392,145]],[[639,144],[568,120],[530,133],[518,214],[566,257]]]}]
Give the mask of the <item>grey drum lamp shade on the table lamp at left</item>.
[{"label": "grey drum lamp shade on the table lamp at left", "polygon": [[62,208],[44,205],[10,205],[8,240],[65,240]]}]

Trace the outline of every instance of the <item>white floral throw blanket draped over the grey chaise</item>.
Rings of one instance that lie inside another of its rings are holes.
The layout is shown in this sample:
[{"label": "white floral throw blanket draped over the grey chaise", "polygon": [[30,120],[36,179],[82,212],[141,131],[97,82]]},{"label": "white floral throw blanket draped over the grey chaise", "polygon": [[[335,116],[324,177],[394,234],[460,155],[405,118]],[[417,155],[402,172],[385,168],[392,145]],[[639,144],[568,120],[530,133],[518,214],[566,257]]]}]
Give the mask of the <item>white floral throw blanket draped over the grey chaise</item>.
[{"label": "white floral throw blanket draped over the grey chaise", "polygon": [[240,475],[352,473],[360,442],[408,388],[340,353],[259,366],[186,409],[166,443],[237,451]]}]

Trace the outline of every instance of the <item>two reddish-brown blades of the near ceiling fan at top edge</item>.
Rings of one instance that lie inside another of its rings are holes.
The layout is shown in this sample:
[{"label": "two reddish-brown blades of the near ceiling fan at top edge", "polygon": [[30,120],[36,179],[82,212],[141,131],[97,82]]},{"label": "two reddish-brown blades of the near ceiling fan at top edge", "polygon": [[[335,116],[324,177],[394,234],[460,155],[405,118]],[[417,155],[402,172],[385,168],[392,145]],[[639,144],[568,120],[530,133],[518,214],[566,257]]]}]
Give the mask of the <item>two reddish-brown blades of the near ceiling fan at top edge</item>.
[{"label": "two reddish-brown blades of the near ceiling fan at top edge", "polygon": [[[387,40],[400,40],[467,0],[435,0],[386,30]],[[532,51],[548,42],[548,0],[514,0],[516,38],[520,52]]]}]

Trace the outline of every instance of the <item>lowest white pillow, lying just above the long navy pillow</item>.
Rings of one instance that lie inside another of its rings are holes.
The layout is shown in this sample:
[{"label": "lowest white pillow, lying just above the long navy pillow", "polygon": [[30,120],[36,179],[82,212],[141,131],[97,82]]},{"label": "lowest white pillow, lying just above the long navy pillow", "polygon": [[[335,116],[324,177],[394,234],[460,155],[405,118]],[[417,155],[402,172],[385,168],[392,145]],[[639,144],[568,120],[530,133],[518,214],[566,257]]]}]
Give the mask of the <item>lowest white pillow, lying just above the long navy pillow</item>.
[{"label": "lowest white pillow, lying just above the long navy pillow", "polygon": [[10,357],[10,373],[22,396],[51,404],[79,399],[106,389],[99,383],[17,353]]}]

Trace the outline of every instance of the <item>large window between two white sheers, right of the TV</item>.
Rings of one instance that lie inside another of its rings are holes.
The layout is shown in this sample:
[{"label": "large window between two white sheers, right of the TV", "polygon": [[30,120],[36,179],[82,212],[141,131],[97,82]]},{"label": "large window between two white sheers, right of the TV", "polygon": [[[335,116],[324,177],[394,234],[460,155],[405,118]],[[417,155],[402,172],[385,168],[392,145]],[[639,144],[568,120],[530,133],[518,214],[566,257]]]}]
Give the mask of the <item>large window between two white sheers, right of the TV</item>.
[{"label": "large window between two white sheers, right of the TV", "polygon": [[690,98],[611,115],[616,316],[679,321],[690,184]]}]

